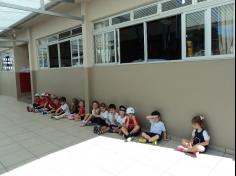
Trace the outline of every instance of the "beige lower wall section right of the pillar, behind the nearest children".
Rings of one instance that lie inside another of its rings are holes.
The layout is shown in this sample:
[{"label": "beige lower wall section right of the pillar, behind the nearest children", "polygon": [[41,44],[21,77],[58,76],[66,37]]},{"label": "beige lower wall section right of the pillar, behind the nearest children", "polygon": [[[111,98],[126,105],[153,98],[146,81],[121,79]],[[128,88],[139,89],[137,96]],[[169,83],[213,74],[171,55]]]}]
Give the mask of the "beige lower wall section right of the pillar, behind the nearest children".
[{"label": "beige lower wall section right of the pillar, behind the nearest children", "polygon": [[145,115],[158,109],[170,134],[190,137],[191,118],[206,115],[212,144],[235,148],[235,61],[199,61],[97,66],[91,71],[91,97],[134,106]]}]

